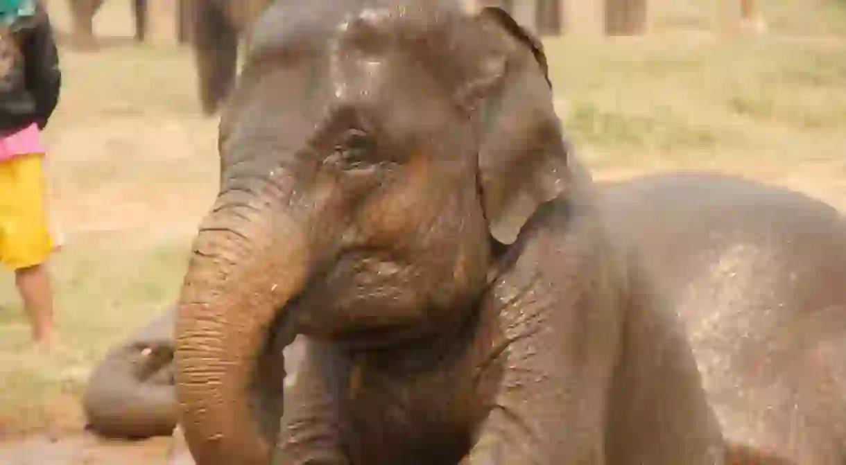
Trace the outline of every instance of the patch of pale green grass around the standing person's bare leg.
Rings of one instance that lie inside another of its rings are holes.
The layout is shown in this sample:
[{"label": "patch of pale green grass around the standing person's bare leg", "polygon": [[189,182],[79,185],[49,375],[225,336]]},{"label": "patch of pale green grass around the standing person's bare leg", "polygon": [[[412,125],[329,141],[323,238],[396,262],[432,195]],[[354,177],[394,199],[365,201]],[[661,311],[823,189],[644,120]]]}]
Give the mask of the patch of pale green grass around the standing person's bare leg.
[{"label": "patch of pale green grass around the standing person's bare leg", "polygon": [[79,426],[77,406],[67,403],[79,397],[91,366],[173,303],[187,238],[128,248],[126,243],[140,243],[128,236],[71,238],[52,261],[62,342],[52,355],[30,347],[12,280],[0,282],[0,437],[45,425]]}]

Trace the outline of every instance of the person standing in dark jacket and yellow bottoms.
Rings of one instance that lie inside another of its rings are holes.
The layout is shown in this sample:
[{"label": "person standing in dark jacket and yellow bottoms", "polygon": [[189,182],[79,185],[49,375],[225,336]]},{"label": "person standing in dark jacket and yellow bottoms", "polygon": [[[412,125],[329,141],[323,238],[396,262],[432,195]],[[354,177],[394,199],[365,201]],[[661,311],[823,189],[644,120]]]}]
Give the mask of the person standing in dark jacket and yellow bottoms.
[{"label": "person standing in dark jacket and yellow bottoms", "polygon": [[33,338],[46,347],[55,332],[47,260],[56,244],[41,130],[61,83],[47,9],[40,0],[0,0],[0,263],[14,271]]}]

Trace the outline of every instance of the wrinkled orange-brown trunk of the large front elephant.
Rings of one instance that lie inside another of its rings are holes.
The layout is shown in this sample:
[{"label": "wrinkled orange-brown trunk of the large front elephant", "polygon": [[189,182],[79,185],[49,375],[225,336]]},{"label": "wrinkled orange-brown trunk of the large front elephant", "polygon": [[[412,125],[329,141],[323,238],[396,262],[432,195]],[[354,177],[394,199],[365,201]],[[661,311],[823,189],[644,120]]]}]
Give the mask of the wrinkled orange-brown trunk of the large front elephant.
[{"label": "wrinkled orange-brown trunk of the large front elephant", "polygon": [[[294,329],[277,319],[305,287],[316,249],[307,219],[279,212],[287,197],[276,203],[229,195],[201,225],[180,297],[180,424],[198,464],[265,465],[282,414],[284,373],[281,349],[266,363],[268,335],[281,338],[276,348],[293,342]],[[263,377],[268,372],[272,380]]]}]

